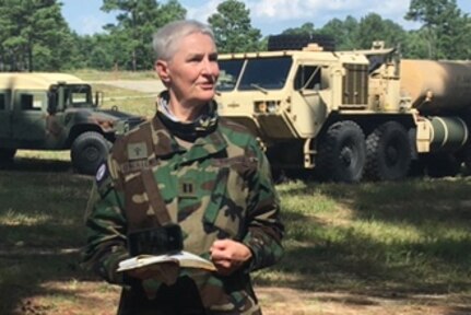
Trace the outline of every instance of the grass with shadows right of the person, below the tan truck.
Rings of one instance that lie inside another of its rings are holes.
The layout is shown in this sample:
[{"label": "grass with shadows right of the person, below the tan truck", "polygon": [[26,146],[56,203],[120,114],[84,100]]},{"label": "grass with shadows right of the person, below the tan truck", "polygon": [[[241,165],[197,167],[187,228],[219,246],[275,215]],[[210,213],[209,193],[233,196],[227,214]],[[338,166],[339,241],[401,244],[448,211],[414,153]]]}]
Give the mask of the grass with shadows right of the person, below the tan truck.
[{"label": "grass with shadows right of the person, below the tan truck", "polygon": [[[286,253],[273,268],[282,276],[262,271],[257,283],[409,302],[429,294],[427,305],[449,305],[444,314],[471,314],[469,191],[468,178],[287,185],[282,200],[313,200],[313,211],[285,202]],[[322,199],[333,200],[332,213],[314,201]],[[440,304],[436,294],[456,301]]]}]

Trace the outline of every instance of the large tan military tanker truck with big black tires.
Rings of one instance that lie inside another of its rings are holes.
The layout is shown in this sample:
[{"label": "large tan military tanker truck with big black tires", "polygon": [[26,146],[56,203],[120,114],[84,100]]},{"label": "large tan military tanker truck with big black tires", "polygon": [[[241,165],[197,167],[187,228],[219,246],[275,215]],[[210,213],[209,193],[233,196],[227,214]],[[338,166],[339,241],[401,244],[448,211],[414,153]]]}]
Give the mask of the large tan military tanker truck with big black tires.
[{"label": "large tan military tanker truck with big black tires", "polygon": [[358,182],[471,166],[471,62],[401,60],[381,42],[281,46],[221,55],[216,93],[220,115],[248,127],[274,170]]}]

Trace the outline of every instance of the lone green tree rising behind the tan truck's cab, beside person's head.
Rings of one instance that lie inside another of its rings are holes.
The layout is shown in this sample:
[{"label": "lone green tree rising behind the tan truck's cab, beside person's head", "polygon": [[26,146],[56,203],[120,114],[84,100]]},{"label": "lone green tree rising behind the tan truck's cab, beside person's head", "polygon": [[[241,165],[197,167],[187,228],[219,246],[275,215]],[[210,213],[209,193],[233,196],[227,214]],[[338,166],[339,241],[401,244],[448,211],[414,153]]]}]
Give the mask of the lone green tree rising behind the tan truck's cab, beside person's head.
[{"label": "lone green tree rising behind the tan truck's cab, beside person's head", "polygon": [[244,2],[226,0],[208,19],[221,52],[256,51],[260,48],[260,30],[250,22],[250,10]]}]

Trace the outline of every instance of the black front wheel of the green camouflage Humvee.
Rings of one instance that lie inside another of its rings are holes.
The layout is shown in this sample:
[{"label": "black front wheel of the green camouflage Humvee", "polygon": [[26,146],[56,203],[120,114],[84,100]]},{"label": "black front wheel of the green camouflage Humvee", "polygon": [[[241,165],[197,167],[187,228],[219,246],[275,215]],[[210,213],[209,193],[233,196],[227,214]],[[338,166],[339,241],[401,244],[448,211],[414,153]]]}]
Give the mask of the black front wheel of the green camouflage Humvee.
[{"label": "black front wheel of the green camouflage Humvee", "polygon": [[80,174],[94,175],[106,160],[111,143],[95,131],[83,132],[72,143],[72,165]]}]

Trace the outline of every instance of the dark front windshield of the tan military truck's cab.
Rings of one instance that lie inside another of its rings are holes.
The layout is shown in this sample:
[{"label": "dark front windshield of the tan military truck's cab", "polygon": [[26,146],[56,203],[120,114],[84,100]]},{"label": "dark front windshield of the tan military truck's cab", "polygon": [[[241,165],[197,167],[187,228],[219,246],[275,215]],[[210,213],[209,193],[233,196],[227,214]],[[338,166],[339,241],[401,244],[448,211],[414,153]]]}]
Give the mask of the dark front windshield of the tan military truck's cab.
[{"label": "dark front windshield of the tan military truck's cab", "polygon": [[286,82],[290,57],[248,59],[238,90],[279,90]]}]

